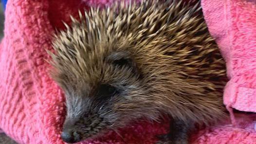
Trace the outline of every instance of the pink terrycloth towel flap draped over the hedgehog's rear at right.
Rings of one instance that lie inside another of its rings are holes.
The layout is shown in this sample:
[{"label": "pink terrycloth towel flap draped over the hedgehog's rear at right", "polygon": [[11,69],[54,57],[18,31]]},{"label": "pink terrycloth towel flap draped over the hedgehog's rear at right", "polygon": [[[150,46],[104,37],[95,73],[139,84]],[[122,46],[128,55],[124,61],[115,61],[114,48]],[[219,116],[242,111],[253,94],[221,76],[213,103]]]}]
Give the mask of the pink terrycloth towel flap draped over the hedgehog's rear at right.
[{"label": "pink terrycloth towel flap draped over the hedgehog's rear at right", "polygon": [[224,104],[256,112],[256,0],[202,0],[204,18],[226,60]]}]

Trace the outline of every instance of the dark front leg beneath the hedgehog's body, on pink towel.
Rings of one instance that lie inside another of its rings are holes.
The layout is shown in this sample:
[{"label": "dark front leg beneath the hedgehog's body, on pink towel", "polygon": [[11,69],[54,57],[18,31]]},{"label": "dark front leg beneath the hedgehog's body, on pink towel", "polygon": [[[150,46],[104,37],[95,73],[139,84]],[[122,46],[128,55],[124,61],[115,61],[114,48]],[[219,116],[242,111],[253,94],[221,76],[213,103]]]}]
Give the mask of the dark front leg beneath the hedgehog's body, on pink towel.
[{"label": "dark front leg beneath the hedgehog's body, on pink towel", "polygon": [[157,136],[160,141],[156,144],[188,144],[192,126],[186,125],[182,121],[172,121],[169,130],[169,133]]}]

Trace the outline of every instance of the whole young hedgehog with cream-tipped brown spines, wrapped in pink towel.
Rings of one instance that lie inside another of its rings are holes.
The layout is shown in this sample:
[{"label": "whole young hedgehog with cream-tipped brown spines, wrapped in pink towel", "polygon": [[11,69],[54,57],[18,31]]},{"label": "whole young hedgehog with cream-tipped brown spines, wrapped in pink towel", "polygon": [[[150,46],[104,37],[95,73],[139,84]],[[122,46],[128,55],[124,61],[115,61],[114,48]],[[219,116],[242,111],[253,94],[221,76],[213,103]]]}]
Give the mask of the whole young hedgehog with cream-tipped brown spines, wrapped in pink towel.
[{"label": "whole young hedgehog with cream-tipped brown spines, wrapped in pink towel", "polygon": [[200,1],[121,1],[79,15],[50,53],[66,96],[63,141],[168,115],[170,131],[157,143],[187,144],[194,124],[225,117],[225,63]]}]

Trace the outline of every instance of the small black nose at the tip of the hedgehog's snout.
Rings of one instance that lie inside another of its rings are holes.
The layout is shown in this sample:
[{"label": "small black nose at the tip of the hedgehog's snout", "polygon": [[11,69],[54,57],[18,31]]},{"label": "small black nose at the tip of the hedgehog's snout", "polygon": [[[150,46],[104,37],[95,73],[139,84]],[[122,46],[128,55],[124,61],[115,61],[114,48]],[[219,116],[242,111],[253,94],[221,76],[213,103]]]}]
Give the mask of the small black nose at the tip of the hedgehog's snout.
[{"label": "small black nose at the tip of the hedgehog's snout", "polygon": [[61,139],[66,143],[77,143],[81,141],[81,137],[77,132],[73,132],[71,130],[65,130],[61,133]]}]

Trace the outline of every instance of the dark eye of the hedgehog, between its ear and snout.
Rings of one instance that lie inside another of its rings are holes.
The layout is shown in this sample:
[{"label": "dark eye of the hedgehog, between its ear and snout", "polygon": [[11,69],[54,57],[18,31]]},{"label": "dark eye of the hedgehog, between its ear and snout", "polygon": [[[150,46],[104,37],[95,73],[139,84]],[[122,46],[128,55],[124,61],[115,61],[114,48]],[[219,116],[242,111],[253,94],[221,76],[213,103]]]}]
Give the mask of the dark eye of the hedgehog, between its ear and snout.
[{"label": "dark eye of the hedgehog, between its ear and snout", "polygon": [[101,84],[98,88],[98,96],[101,98],[110,97],[116,93],[116,88],[108,84]]}]

